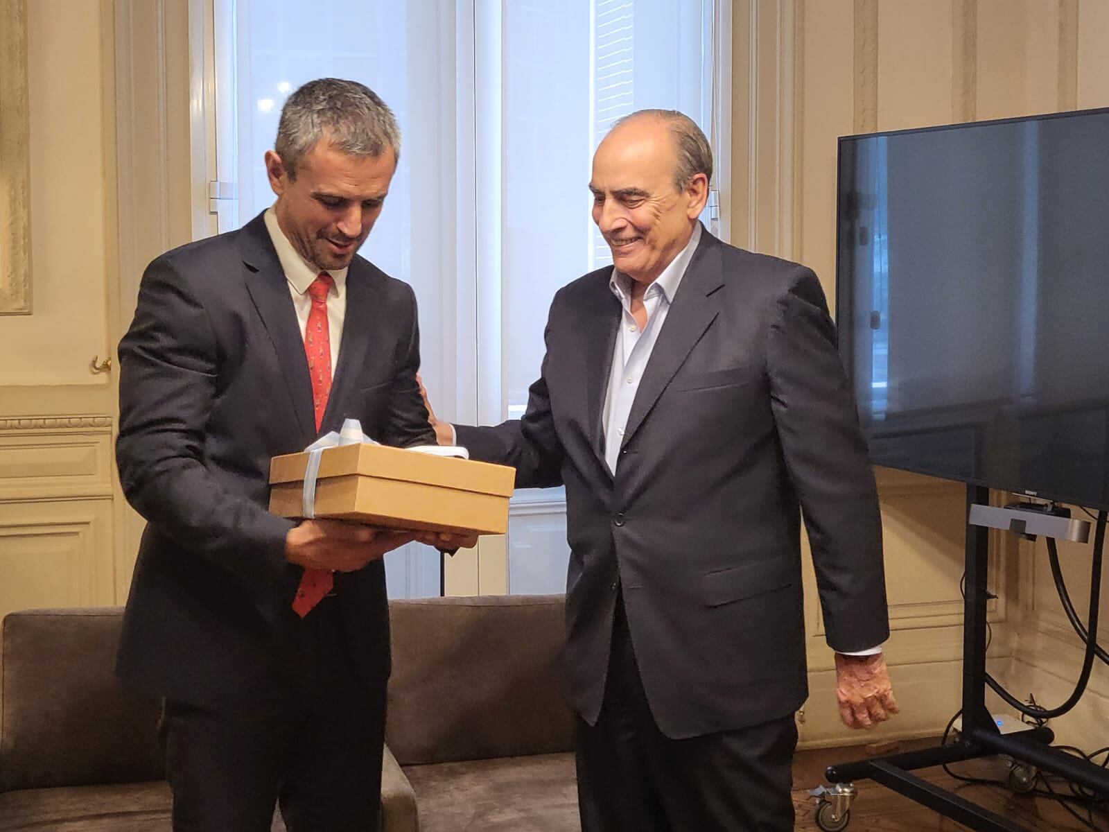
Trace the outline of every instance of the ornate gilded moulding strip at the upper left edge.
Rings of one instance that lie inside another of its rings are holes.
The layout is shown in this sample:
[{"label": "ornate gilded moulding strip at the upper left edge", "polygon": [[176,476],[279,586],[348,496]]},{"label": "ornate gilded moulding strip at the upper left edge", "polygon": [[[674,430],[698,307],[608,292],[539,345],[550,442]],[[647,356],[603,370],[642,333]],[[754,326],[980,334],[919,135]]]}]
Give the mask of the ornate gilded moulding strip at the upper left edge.
[{"label": "ornate gilded moulding strip at the upper left edge", "polygon": [[0,315],[31,314],[27,0],[0,3]]}]

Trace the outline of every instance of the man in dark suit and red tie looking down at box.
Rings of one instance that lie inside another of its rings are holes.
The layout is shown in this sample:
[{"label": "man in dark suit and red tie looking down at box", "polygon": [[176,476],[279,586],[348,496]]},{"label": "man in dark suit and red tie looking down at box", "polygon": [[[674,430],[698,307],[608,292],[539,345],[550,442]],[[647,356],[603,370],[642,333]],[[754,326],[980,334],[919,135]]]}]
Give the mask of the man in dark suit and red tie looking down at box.
[{"label": "man in dark suit and red tie looking down at box", "polygon": [[147,526],[118,672],[164,698],[175,830],[262,832],[275,802],[291,832],[379,822],[381,557],[416,536],[266,504],[271,457],[345,417],[434,442],[413,292],[355,254],[398,151],[370,90],[302,87],[265,158],[273,207],[151,263],[120,344],[120,479]]}]

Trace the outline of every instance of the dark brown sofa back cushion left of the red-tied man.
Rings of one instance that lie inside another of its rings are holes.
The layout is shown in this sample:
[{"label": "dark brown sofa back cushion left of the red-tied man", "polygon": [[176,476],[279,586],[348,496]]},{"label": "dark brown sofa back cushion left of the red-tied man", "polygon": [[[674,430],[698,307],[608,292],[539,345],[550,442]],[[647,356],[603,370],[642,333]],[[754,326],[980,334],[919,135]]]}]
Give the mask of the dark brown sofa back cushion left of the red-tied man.
[{"label": "dark brown sofa back cushion left of the red-tied man", "polygon": [[122,610],[12,612],[3,620],[0,792],[164,777],[157,702],[114,676]]}]

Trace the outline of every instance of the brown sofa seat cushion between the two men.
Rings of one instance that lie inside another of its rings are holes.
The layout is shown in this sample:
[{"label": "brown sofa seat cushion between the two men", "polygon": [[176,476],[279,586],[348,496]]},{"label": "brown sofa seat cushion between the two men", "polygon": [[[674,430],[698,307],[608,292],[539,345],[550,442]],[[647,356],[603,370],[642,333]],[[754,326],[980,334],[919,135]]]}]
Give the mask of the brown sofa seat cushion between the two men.
[{"label": "brown sofa seat cushion between the two men", "polygon": [[573,754],[405,767],[420,832],[579,832]]}]

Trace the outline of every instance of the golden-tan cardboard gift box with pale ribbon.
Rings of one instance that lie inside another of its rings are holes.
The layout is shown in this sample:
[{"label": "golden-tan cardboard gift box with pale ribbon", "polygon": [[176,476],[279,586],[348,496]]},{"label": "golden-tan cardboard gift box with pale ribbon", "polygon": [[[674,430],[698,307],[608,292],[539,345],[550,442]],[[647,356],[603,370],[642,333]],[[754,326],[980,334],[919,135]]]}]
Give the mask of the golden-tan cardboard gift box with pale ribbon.
[{"label": "golden-tan cardboard gift box with pale ribbon", "polygon": [[[269,463],[269,511],[304,517],[308,453]],[[430,531],[503,535],[516,469],[385,445],[325,448],[316,478],[316,517]]]}]

